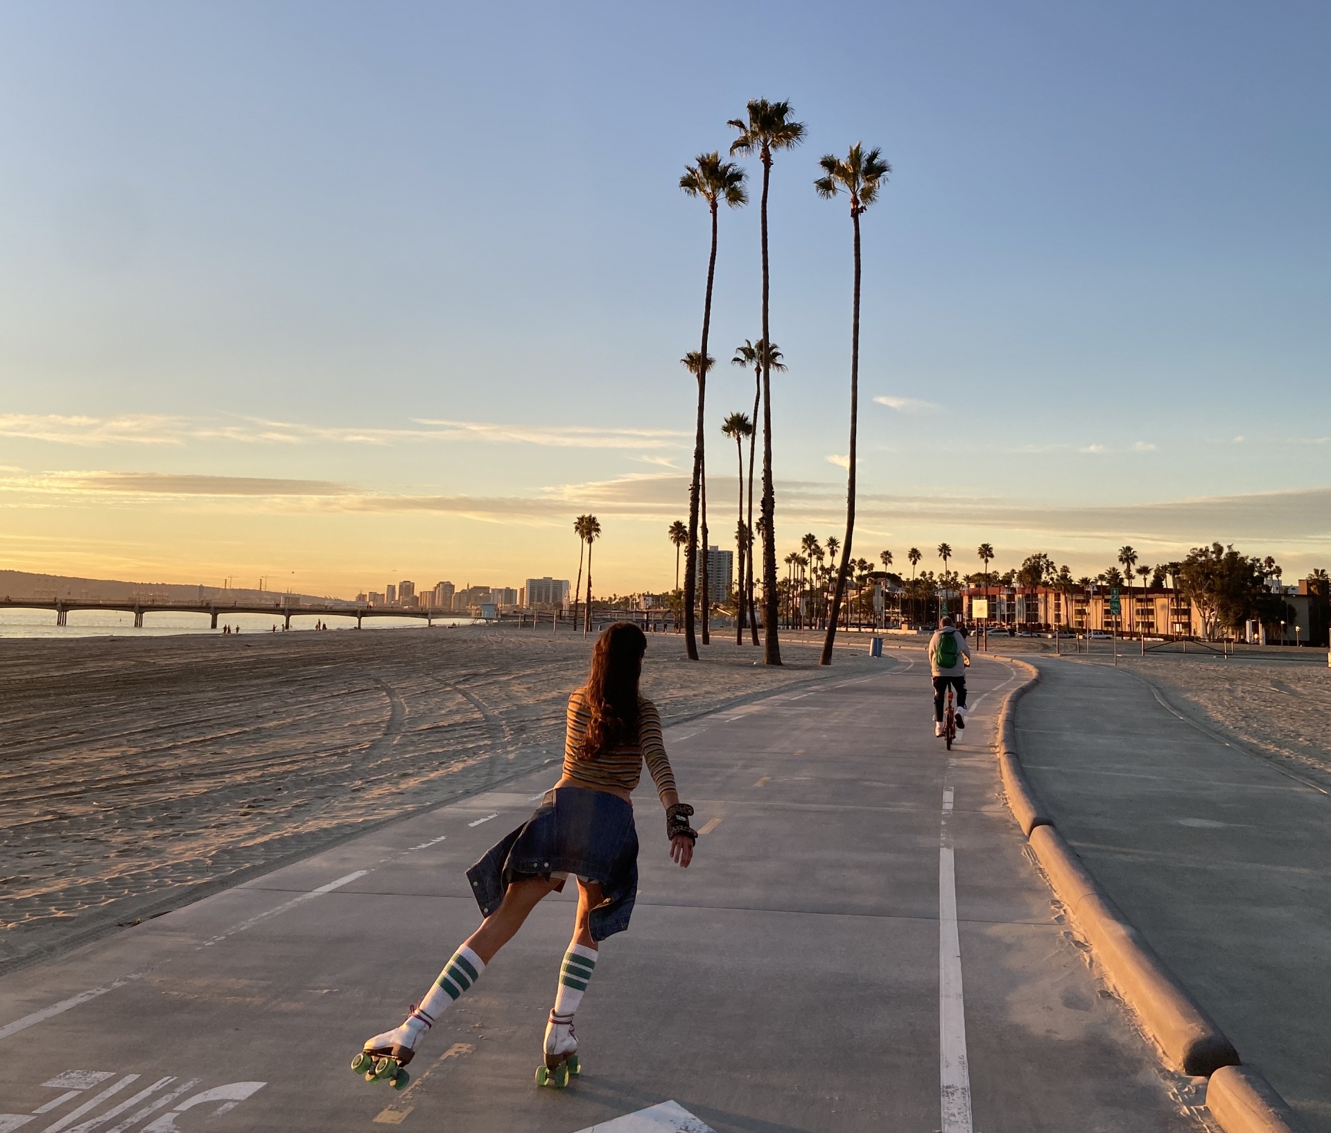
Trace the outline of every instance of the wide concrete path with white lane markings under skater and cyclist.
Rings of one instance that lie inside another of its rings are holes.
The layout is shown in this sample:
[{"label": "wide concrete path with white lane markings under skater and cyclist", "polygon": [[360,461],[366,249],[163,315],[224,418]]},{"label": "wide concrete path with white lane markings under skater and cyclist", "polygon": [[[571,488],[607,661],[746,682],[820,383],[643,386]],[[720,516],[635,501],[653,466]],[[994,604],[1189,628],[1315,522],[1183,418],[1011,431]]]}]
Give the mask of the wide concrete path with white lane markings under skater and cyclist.
[{"label": "wide concrete path with white lane markings under skater and cyclist", "polygon": [[998,797],[1012,679],[977,663],[950,755],[918,652],[669,730],[697,857],[668,863],[643,792],[638,908],[568,1090],[531,1081],[568,896],[445,1016],[410,1090],[347,1069],[475,927],[463,871],[551,766],[0,980],[0,1129],[574,1133],[667,1100],[717,1133],[1197,1129]]}]

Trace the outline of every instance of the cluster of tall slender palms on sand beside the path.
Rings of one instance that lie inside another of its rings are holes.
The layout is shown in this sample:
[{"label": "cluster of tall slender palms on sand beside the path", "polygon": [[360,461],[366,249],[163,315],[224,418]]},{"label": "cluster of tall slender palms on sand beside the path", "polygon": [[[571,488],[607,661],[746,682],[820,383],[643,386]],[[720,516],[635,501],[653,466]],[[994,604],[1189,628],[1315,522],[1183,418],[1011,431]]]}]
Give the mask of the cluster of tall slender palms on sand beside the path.
[{"label": "cluster of tall slender palms on sand beside the path", "polygon": [[[805,126],[795,121],[791,104],[787,101],[772,103],[767,99],[752,99],[745,107],[745,117],[731,118],[728,125],[736,130],[736,137],[731,142],[729,156],[757,157],[763,166],[763,196],[760,202],[760,252],[763,264],[763,334],[757,342],[745,341],[744,346],[736,351],[732,359],[736,365],[753,366],[755,371],[755,398],[753,415],[731,414],[724,426],[727,437],[736,442],[740,459],[740,518],[736,530],[736,542],[740,558],[740,598],[737,603],[736,638],[739,643],[744,640],[744,626],[748,622],[757,643],[757,607],[755,604],[755,570],[756,542],[763,546],[763,628],[764,628],[764,660],[768,664],[781,663],[781,648],[777,636],[779,595],[776,578],[776,497],[772,485],[772,370],[785,369],[780,365],[780,351],[771,345],[771,262],[768,254],[768,197],[771,193],[773,156],[783,149],[791,149],[804,140]],[[832,663],[832,647],[836,638],[837,611],[845,596],[847,578],[853,567],[851,557],[855,541],[855,502],[856,502],[856,442],[858,434],[858,375],[860,375],[860,217],[877,197],[881,185],[886,181],[890,166],[882,160],[878,149],[868,152],[856,142],[849,148],[845,157],[825,154],[819,166],[823,174],[813,182],[815,192],[827,200],[835,200],[843,193],[849,200],[851,222],[853,233],[853,261],[855,261],[855,288],[851,313],[851,446],[847,466],[847,514],[845,538],[840,541],[841,559],[837,565],[832,590],[832,615],[828,618],[827,638],[823,643],[821,663]],[[687,527],[687,557],[684,561],[684,644],[688,656],[697,659],[697,642],[695,630],[695,607],[697,606],[697,590],[701,583],[705,598],[707,588],[707,557],[699,555],[699,537],[701,546],[707,547],[707,479],[705,479],[705,402],[707,402],[707,374],[716,359],[708,354],[708,340],[712,326],[712,289],[716,278],[716,253],[719,242],[719,216],[720,206],[737,209],[748,204],[745,181],[748,174],[733,161],[721,157],[720,150],[701,153],[692,165],[688,165],[680,177],[679,185],[691,197],[700,198],[708,206],[711,218],[711,253],[707,261],[707,288],[703,301],[703,333],[699,349],[689,351],[681,359],[684,366],[693,374],[697,382],[697,423],[693,441],[693,469],[688,493],[688,527]],[[759,521],[753,525],[753,465],[756,451],[756,433],[759,427],[759,413],[761,413],[763,433],[763,490],[759,503]],[[744,441],[749,441],[749,498],[748,515],[744,514]],[[677,557],[676,557],[677,558]],[[701,572],[701,579],[699,574]],[[703,643],[708,642],[708,611],[709,603],[701,603],[701,636]]]}]

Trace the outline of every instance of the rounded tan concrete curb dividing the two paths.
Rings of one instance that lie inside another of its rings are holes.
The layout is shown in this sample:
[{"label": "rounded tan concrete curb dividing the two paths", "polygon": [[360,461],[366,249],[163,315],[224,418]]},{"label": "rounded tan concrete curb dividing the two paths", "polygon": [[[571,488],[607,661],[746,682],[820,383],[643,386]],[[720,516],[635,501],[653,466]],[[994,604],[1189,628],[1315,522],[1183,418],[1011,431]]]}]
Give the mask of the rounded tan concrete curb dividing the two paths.
[{"label": "rounded tan concrete curb dividing the two paths", "polygon": [[1299,1133],[1302,1126],[1286,1101],[1262,1074],[1239,1065],[1234,1044],[1133,928],[1041,807],[1021,770],[1016,727],[1017,700],[1034,687],[1040,671],[1017,658],[1002,660],[1034,675],[1004,700],[998,770],[1013,817],[1058,899],[1166,1058],[1186,1074],[1209,1076],[1206,1104],[1225,1133]]}]

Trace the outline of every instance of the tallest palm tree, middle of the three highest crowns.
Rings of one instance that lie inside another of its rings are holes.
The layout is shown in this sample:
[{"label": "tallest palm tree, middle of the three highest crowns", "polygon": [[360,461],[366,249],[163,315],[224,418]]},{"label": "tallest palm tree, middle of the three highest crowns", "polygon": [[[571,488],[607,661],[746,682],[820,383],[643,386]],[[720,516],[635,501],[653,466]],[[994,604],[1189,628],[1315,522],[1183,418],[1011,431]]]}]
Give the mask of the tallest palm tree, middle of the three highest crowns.
[{"label": "tallest palm tree, middle of the three highest crowns", "polygon": [[[731,118],[728,125],[739,130],[731,142],[731,153],[751,156],[755,152],[763,162],[763,342],[772,341],[769,326],[771,269],[767,254],[767,194],[772,181],[772,153],[789,149],[804,140],[804,124],[791,118],[789,103],[769,103],[751,99],[748,118]],[[776,634],[776,493],[772,487],[772,379],[771,366],[763,359],[763,606],[767,623],[765,662],[781,663],[781,644]]]}]

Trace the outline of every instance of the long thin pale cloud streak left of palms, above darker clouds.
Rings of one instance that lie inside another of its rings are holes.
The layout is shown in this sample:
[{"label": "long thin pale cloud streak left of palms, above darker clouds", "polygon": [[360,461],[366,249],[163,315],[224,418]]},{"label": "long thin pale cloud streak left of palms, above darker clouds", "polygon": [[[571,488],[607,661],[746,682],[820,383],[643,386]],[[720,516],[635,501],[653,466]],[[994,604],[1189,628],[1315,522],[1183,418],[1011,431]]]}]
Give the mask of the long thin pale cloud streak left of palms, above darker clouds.
[{"label": "long thin pale cloud streak left of palms, above darker clouds", "polygon": [[53,445],[170,445],[230,441],[242,445],[395,445],[471,441],[550,449],[677,449],[685,433],[671,429],[618,429],[580,425],[512,425],[484,421],[413,419],[397,429],[366,429],[273,421],[262,417],[170,417],[128,414],[88,417],[0,414],[0,437]]}]

